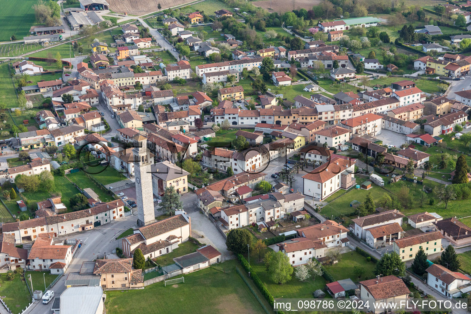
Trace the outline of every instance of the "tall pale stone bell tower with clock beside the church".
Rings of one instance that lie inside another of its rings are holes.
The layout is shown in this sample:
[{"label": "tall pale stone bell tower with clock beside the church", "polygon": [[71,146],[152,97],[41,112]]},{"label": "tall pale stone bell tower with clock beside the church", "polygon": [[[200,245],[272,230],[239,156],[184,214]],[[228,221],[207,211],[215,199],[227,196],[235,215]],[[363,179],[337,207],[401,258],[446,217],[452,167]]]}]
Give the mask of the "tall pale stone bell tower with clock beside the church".
[{"label": "tall pale stone bell tower with clock beside the church", "polygon": [[152,174],[150,153],[147,139],[138,134],[133,139],[134,176],[136,177],[136,201],[138,204],[138,225],[151,224],[155,221],[152,193]]}]

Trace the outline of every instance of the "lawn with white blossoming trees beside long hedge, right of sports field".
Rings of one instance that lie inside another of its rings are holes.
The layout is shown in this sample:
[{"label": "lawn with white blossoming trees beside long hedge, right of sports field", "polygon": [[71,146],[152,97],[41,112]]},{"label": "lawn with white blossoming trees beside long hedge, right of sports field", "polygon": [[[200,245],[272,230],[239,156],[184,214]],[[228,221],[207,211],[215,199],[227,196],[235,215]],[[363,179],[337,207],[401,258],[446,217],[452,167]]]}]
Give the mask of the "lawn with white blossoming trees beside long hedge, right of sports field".
[{"label": "lawn with white blossoming trees beside long hedge, right of sports field", "polygon": [[[273,298],[312,298],[312,292],[317,289],[326,291],[325,279],[321,276],[317,276],[315,280],[312,280],[311,277],[308,281],[301,282],[294,276],[293,272],[292,279],[281,285],[270,280],[263,260],[258,262],[257,258],[252,257],[250,266],[260,277],[260,280],[265,284]],[[330,295],[327,293],[325,297],[330,298]]]}]

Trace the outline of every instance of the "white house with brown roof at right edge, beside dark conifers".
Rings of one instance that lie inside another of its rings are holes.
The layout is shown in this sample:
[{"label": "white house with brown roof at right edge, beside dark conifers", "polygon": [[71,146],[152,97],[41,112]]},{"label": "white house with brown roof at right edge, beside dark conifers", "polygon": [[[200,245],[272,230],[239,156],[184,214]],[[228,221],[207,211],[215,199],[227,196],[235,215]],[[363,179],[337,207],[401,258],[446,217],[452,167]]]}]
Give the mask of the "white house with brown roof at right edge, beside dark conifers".
[{"label": "white house with brown roof at right edge, beside dark conifers", "polygon": [[452,272],[439,264],[432,264],[426,272],[428,285],[446,298],[459,298],[462,292],[469,291],[464,289],[469,286],[471,278],[465,274]]}]

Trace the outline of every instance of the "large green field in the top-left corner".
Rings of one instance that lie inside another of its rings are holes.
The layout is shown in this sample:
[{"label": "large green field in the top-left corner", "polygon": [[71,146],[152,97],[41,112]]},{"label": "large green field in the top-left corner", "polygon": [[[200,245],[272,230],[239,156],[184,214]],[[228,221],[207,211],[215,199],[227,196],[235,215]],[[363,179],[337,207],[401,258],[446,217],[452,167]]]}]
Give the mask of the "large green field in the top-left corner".
[{"label": "large green field in the top-left corner", "polygon": [[10,40],[15,35],[18,40],[29,35],[29,29],[34,24],[35,0],[2,0],[0,1],[0,41]]}]

